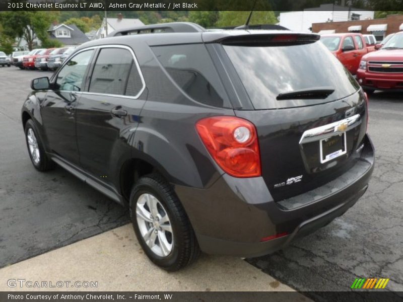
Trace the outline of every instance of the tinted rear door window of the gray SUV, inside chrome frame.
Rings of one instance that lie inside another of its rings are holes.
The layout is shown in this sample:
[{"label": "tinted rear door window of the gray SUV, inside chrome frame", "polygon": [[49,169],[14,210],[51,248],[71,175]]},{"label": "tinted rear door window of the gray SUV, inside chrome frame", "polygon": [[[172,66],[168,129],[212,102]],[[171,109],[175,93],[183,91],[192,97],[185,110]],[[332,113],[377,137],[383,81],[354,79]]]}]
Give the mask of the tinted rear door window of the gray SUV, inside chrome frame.
[{"label": "tinted rear door window of the gray SUV, inside chrome frame", "polygon": [[101,49],[91,77],[90,92],[136,96],[143,87],[133,55],[127,49]]}]

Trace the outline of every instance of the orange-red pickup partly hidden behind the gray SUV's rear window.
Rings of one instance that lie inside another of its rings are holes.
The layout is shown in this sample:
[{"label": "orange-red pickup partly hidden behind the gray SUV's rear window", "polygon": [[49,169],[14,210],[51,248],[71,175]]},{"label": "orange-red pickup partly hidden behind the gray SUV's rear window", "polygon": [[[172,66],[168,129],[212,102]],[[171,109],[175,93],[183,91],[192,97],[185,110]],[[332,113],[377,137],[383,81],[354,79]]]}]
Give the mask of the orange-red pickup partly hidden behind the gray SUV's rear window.
[{"label": "orange-red pickup partly hidden behind the gray SUV's rear window", "polygon": [[374,49],[368,49],[362,34],[345,33],[322,35],[320,41],[352,73],[356,74],[363,55]]}]

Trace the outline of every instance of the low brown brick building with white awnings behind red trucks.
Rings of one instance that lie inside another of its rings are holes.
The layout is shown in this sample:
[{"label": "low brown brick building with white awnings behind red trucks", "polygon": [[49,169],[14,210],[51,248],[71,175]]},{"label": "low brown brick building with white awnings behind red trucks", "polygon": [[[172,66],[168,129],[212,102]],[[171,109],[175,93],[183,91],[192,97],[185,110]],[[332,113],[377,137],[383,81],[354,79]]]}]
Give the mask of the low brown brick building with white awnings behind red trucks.
[{"label": "low brown brick building with white awnings behind red trucks", "polygon": [[362,34],[373,34],[377,41],[382,41],[388,34],[398,31],[403,31],[403,15],[388,15],[383,19],[373,20],[312,24],[312,32],[314,33],[358,32]]}]

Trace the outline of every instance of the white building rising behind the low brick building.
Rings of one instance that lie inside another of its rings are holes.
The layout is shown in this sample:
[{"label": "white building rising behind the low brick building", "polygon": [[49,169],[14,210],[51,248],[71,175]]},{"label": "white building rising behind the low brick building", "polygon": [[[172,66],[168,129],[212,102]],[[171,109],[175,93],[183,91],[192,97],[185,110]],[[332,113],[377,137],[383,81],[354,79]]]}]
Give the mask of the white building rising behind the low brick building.
[{"label": "white building rising behind the low brick building", "polygon": [[293,31],[311,32],[313,23],[367,19],[374,19],[373,11],[322,4],[318,8],[305,9],[301,12],[280,13],[279,25]]}]

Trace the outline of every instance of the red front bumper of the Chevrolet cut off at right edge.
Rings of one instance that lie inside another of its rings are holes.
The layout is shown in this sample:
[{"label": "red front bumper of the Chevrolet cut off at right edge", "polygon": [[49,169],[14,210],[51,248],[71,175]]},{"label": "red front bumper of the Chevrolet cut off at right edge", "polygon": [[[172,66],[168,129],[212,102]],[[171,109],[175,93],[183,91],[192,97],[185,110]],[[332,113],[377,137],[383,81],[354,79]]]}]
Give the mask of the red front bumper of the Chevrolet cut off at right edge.
[{"label": "red front bumper of the Chevrolet cut off at right edge", "polygon": [[403,73],[357,71],[357,81],[365,89],[403,89]]}]

